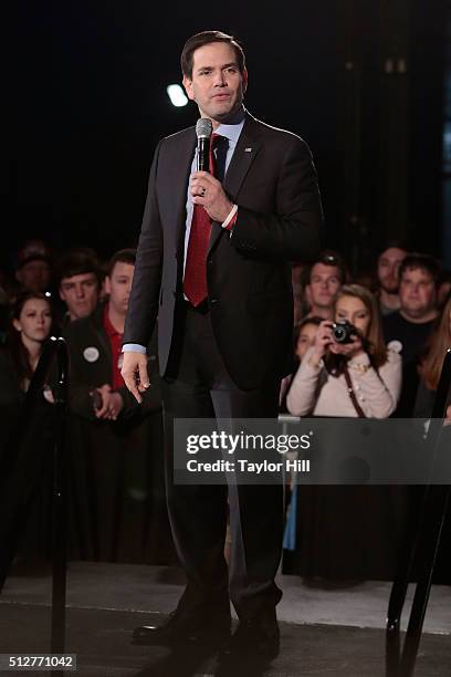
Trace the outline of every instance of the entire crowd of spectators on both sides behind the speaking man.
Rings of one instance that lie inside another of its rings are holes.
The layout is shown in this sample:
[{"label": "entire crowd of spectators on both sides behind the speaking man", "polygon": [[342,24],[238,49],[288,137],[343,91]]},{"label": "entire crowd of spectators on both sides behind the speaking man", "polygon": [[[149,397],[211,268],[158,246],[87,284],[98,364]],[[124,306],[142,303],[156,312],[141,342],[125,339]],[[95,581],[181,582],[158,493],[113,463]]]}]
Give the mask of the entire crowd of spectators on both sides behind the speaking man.
[{"label": "entire crowd of spectators on both sides behind the speaking man", "polygon": [[[63,252],[32,240],[14,275],[0,278],[0,406],[13,428],[43,346],[65,337],[71,358],[67,448],[71,554],[171,559],[162,469],[158,347],[148,346],[151,387],[138,405],[120,375],[122,337],[136,252],[102,263],[88,248]],[[373,275],[354,277],[325,250],[293,265],[293,373],[281,412],[295,416],[429,417],[451,347],[451,275],[426,253],[389,243]],[[52,404],[51,389],[42,394]],[[444,415],[451,418],[451,404]]]}]

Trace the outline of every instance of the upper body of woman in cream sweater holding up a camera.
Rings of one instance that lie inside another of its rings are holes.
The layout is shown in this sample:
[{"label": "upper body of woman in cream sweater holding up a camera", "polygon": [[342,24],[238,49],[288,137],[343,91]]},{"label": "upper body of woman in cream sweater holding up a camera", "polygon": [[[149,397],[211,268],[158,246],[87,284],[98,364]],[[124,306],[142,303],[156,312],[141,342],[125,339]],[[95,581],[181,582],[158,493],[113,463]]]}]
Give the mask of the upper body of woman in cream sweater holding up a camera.
[{"label": "upper body of woman in cream sweater holding up a camera", "polygon": [[384,343],[374,294],[345,284],[293,379],[286,404],[295,416],[386,418],[401,388],[401,357]]}]

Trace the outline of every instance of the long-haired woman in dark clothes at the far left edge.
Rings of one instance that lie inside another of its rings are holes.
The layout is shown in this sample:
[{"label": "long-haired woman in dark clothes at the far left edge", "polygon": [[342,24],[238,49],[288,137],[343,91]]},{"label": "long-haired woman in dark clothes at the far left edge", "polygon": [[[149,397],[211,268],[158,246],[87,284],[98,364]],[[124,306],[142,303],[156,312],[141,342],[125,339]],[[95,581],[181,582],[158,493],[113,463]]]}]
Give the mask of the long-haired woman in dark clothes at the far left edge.
[{"label": "long-haired woman in dark clothes at the far left edge", "polygon": [[[22,408],[30,381],[52,327],[49,299],[40,292],[24,292],[12,308],[6,346],[0,351],[0,464],[2,479],[17,485],[20,494],[30,482],[36,488],[29,496],[29,511],[18,554],[27,561],[45,559],[51,538],[52,476],[54,438],[53,407],[49,397],[38,398],[27,416]],[[45,402],[48,400],[48,402]],[[50,454],[49,454],[50,449]],[[39,475],[38,475],[39,473]],[[21,479],[23,478],[23,479]],[[31,486],[31,485],[30,485]],[[25,497],[25,494],[24,494]],[[22,532],[20,525],[19,532]]]}]

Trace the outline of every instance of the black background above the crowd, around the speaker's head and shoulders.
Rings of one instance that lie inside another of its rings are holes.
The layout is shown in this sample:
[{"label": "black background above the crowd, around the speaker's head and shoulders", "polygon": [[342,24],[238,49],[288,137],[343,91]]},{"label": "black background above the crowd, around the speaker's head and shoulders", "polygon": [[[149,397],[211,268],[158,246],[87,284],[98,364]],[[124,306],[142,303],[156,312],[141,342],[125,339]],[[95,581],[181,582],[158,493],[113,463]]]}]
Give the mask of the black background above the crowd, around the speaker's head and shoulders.
[{"label": "black background above the crowd, around the speaker's head and shoulders", "polygon": [[[221,8],[172,0],[21,2],[12,51],[1,263],[30,237],[101,256],[136,241],[158,138],[196,122],[171,106],[190,34],[242,40],[259,118],[302,135],[319,173],[328,244],[353,268],[388,239],[441,256],[449,2],[302,0]],[[451,140],[449,142],[451,146]],[[448,250],[447,250],[448,247]]]}]

